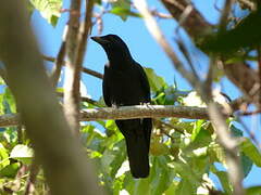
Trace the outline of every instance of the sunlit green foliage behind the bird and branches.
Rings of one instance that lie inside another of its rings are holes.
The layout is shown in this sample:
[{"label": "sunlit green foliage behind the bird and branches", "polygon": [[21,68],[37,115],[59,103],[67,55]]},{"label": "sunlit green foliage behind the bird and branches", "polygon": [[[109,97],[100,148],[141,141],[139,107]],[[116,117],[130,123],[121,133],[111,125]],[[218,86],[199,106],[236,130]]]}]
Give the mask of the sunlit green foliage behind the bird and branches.
[{"label": "sunlit green foliage behind the bird and branches", "polygon": [[[111,14],[121,16],[124,21],[128,16],[139,17],[139,14],[132,10],[129,1],[109,2]],[[62,0],[30,0],[30,3],[29,9],[33,5],[49,23],[53,26],[57,24]],[[99,1],[99,3],[102,6],[102,2]],[[231,36],[229,31],[226,36]],[[223,38],[214,37],[213,42],[220,39]],[[227,41],[226,38],[224,41]],[[213,44],[210,41],[206,47],[211,50]],[[220,49],[216,50],[219,52]],[[178,90],[175,84],[167,84],[164,78],[158,76],[153,69],[145,68],[145,70],[151,86],[153,104],[204,106],[195,91]],[[1,115],[16,113],[15,101],[9,88],[5,86],[2,88],[4,91],[0,94]],[[92,108],[94,105],[83,104],[83,107]],[[244,177],[247,178],[252,165],[261,167],[260,151],[250,139],[244,136],[233,119],[228,121],[228,125],[232,134],[243,140],[238,155],[241,157]],[[0,194],[7,192],[21,194],[25,191],[28,167],[34,155],[29,141],[24,139],[23,129],[23,138],[20,138],[18,131],[21,130],[16,127],[0,129]],[[124,192],[134,195],[208,194],[210,190],[217,191],[212,180],[213,174],[220,180],[222,192],[232,194],[232,185],[225,169],[224,151],[219,145],[214,129],[208,120],[178,118],[154,120],[150,146],[151,170],[149,178],[142,180],[135,180],[130,176],[125,141],[113,120],[84,123],[80,139],[86,148],[86,155],[97,167],[100,184],[110,194]],[[21,177],[18,171],[24,167],[26,170]],[[37,176],[36,192],[38,194],[47,192],[42,172]],[[261,186],[249,187],[247,192],[258,194],[261,192]]]}]

